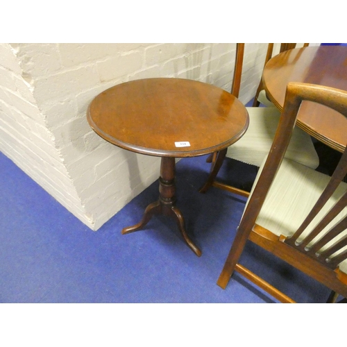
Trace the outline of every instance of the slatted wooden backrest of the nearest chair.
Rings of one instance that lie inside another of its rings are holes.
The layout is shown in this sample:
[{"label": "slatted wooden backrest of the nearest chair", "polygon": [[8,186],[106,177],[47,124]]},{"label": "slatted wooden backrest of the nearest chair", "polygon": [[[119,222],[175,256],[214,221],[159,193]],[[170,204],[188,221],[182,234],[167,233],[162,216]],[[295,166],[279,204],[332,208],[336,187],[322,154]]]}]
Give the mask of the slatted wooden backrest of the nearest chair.
[{"label": "slatted wooden backrest of the nearest chair", "polygon": [[[246,211],[244,212],[242,223],[245,223],[246,225],[241,226],[240,224],[240,228],[253,228],[257,215],[260,213],[266,198],[266,194],[271,187],[273,179],[276,177],[276,173],[282,162],[285,150],[289,144],[301,102],[305,100],[321,103],[329,108],[337,110],[341,115],[344,115],[344,117],[347,118],[346,91],[319,85],[309,85],[305,83],[288,84],[285,105],[280,117],[276,137],[273,140],[271,151],[266,159],[266,163],[264,164],[262,174],[257,181],[257,185],[255,186],[250,200],[248,201]],[[332,122],[333,121],[334,120],[332,119]],[[339,187],[341,181],[347,174],[347,119],[345,133],[346,149],[341,156],[341,160],[339,161],[334,174],[332,174],[328,185],[325,187],[323,193],[319,197],[318,201],[316,201],[316,204],[312,208],[311,212],[307,215],[305,221],[303,221],[302,225],[298,228],[295,234],[291,238],[282,240],[283,242],[296,248],[297,251],[305,253],[305,255],[312,257],[312,259],[333,270],[337,269],[337,266],[342,261],[347,259],[347,235],[345,235],[347,229],[347,216],[341,219],[341,221],[337,222],[335,226],[330,227],[330,230],[328,230],[323,237],[318,237],[318,240],[315,238],[322,230],[324,230],[324,228],[328,226],[330,222],[335,219],[335,217],[337,217],[337,215],[344,208],[346,208],[347,189],[341,198],[339,198],[339,201],[337,201],[337,203],[335,203],[335,205],[333,205],[333,207],[330,208],[325,215],[323,215],[321,220],[316,223],[316,226],[309,233],[307,233],[307,230],[305,229],[322,210],[325,203],[327,203],[332,194],[334,194],[337,187]],[[304,231],[305,237],[298,241],[298,238],[303,235]],[[335,242],[335,237],[337,239],[340,238],[339,241]],[[333,239],[335,239],[334,242],[332,242]],[[312,240],[314,240],[313,246],[310,244]],[[331,246],[327,246],[329,242],[332,242]],[[308,244],[310,244],[310,247],[307,247]],[[324,251],[321,251],[322,248]]]}]

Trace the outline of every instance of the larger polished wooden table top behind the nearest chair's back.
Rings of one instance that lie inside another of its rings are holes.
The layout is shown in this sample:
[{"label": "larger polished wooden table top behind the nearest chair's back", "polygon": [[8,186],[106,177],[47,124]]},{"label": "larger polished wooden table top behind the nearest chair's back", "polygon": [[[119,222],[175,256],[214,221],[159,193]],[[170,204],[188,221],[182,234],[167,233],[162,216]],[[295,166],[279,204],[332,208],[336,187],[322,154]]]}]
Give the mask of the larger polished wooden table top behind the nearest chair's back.
[{"label": "larger polished wooden table top behind the nearest chair's back", "polygon": [[[263,84],[269,99],[282,110],[288,82],[313,83],[347,90],[347,47],[312,46],[291,49],[273,57],[263,72]],[[332,113],[323,105],[304,101],[298,113],[297,124],[337,151],[344,151],[346,119],[337,116],[332,123]]]}]

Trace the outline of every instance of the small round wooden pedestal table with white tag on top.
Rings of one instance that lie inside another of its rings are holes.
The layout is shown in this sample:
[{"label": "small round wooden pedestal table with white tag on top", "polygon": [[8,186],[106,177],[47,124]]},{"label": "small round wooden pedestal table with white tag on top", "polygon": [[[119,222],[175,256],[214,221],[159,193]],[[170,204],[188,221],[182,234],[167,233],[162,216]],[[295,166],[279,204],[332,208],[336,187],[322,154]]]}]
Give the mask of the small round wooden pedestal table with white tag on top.
[{"label": "small round wooden pedestal table with white tag on top", "polygon": [[175,158],[218,151],[216,165],[221,164],[228,146],[248,128],[244,105],[230,93],[206,83],[149,78],[116,85],[96,96],[87,120],[108,142],[162,158],[158,201],[148,205],[142,220],[124,228],[122,234],[141,229],[155,213],[169,215],[176,219],[188,246],[200,256],[176,207]]}]

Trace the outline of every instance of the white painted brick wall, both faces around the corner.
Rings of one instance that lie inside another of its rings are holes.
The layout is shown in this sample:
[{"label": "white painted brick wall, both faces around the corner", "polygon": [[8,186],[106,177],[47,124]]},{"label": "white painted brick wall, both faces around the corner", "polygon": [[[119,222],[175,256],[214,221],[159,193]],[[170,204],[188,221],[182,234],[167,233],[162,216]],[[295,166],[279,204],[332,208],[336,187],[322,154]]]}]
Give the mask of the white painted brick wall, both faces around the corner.
[{"label": "white painted brick wall, both faces around the corner", "polygon": [[[0,149],[97,230],[158,178],[160,158],[124,151],[96,135],[86,120],[94,96],[153,77],[190,78],[230,91],[235,47],[1,44]],[[265,44],[246,45],[244,103],[255,94],[265,53]]]}]

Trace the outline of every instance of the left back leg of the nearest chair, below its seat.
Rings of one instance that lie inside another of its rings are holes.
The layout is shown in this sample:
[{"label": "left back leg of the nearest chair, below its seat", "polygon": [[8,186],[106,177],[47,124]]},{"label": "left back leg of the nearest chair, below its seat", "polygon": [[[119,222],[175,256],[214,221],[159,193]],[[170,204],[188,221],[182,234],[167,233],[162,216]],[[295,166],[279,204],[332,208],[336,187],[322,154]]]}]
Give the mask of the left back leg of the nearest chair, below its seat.
[{"label": "left back leg of the nearest chair, below its seat", "polygon": [[230,277],[235,270],[235,266],[239,261],[239,257],[241,256],[242,251],[244,251],[244,246],[246,245],[250,232],[251,230],[248,232],[246,232],[246,230],[242,230],[241,224],[239,228],[237,228],[234,242],[232,242],[228,257],[226,258],[226,262],[223,266],[223,270],[221,271],[221,274],[217,280],[217,285],[219,285],[219,287],[226,289]]}]

